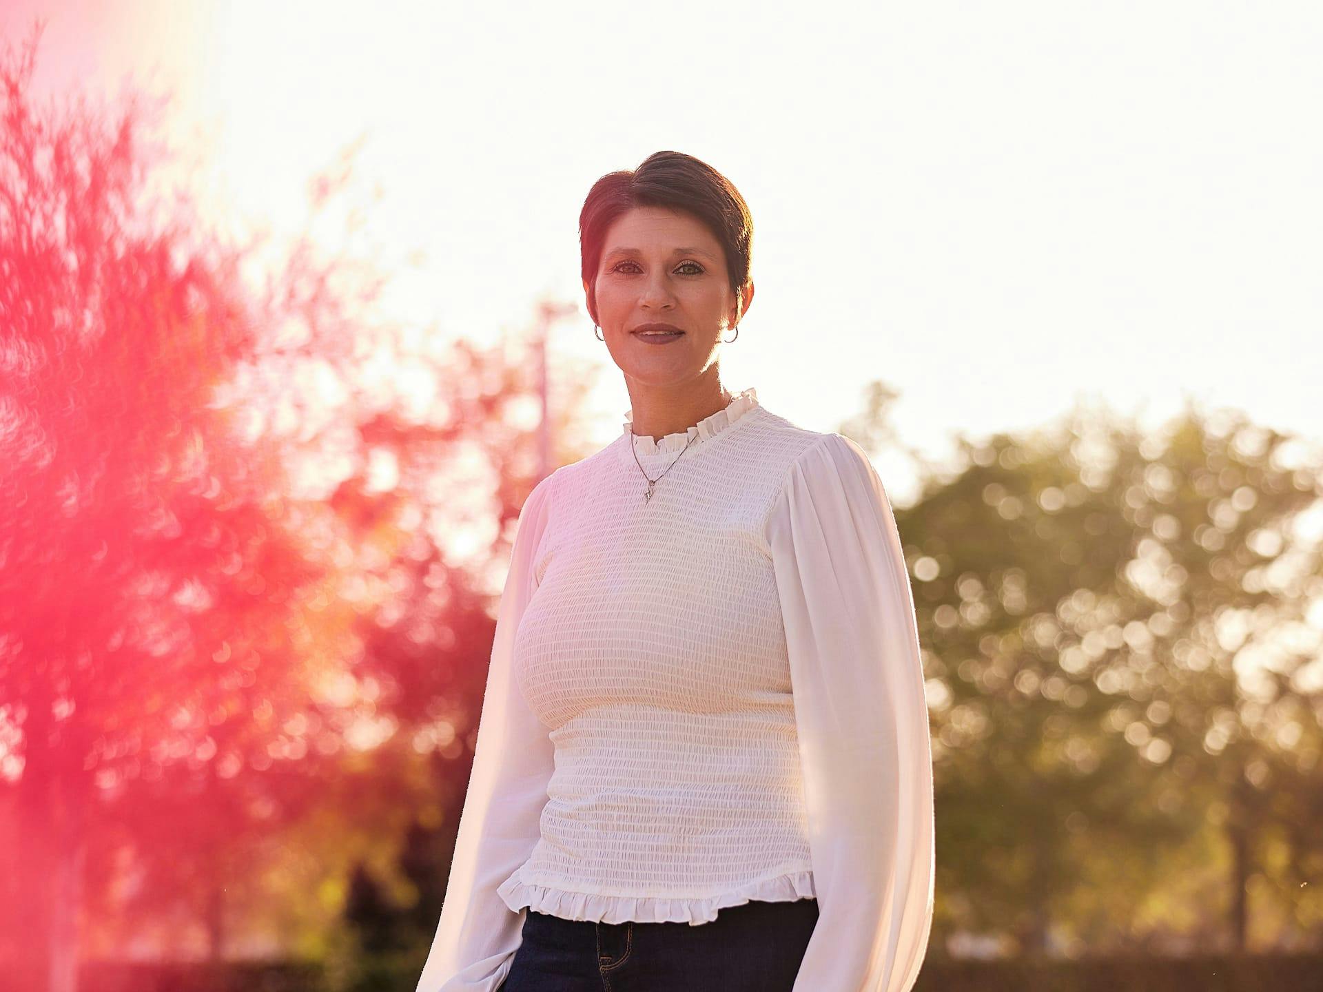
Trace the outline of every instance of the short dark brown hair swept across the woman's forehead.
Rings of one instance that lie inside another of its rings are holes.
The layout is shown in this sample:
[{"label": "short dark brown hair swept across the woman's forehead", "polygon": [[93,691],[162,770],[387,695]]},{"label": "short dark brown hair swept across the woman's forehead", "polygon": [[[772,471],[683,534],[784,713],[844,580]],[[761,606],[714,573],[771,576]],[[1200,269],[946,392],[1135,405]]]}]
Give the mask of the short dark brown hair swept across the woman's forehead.
[{"label": "short dark brown hair swept across the woman's forehead", "polygon": [[717,238],[726,257],[730,288],[749,282],[753,214],[734,184],[708,163],[683,152],[652,152],[631,171],[609,172],[587,192],[579,210],[579,263],[587,280],[589,316],[597,320],[597,269],[602,242],[615,220],[636,206],[664,206],[692,214]]}]

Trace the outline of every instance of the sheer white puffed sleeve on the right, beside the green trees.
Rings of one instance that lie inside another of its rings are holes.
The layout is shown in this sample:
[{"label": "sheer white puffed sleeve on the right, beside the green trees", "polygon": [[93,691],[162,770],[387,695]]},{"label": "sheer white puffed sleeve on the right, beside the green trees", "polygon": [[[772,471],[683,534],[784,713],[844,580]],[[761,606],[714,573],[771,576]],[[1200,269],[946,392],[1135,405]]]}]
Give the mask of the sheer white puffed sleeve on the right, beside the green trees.
[{"label": "sheer white puffed sleeve on the right, beside the green trees", "polygon": [[795,992],[909,992],[933,923],[933,758],[900,532],[868,455],[800,454],[767,517],[818,923]]}]

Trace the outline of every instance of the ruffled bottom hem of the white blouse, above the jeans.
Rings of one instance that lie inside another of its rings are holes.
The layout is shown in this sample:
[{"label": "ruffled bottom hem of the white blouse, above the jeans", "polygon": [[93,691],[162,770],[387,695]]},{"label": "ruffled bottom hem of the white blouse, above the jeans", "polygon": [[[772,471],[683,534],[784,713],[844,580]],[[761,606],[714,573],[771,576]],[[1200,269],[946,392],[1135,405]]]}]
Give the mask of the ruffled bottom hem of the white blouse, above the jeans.
[{"label": "ruffled bottom hem of the white blouse, above the jeans", "polygon": [[717,918],[717,911],[726,906],[742,906],[751,901],[794,902],[795,899],[818,898],[811,869],[762,878],[733,891],[708,898],[672,899],[570,891],[544,885],[527,885],[519,880],[519,870],[507,878],[496,893],[515,913],[528,906],[537,913],[561,919],[599,923],[624,923],[627,921],[635,923],[688,923],[689,926],[710,923]]}]

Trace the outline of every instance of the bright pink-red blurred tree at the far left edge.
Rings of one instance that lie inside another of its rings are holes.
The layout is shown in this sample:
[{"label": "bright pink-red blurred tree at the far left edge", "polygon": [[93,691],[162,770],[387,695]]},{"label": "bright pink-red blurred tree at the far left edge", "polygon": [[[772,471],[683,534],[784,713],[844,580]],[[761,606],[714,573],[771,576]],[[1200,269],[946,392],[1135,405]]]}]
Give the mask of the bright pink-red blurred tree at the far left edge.
[{"label": "bright pink-red blurred tree at the far left edge", "polygon": [[[318,575],[277,525],[274,452],[213,402],[255,343],[238,255],[185,204],[144,222],[143,107],[36,110],[36,48],[0,67],[0,952],[19,992],[73,988],[110,806],[152,815],[140,844],[233,831],[197,790],[302,708],[284,622]],[[168,819],[128,802],[180,770]]]}]

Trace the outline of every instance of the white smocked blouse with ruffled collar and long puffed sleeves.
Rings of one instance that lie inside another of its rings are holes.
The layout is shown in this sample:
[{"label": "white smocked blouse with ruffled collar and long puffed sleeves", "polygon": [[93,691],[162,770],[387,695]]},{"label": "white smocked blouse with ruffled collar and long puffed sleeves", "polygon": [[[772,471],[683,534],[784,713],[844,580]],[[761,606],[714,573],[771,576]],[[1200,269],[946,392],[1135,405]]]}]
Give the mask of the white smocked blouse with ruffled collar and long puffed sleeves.
[{"label": "white smocked blouse with ruffled collar and long puffed sleeves", "polygon": [[418,992],[495,992],[527,907],[700,926],[799,898],[795,992],[909,992],[934,864],[909,573],[863,448],[750,388],[656,442],[627,411],[533,488]]}]

